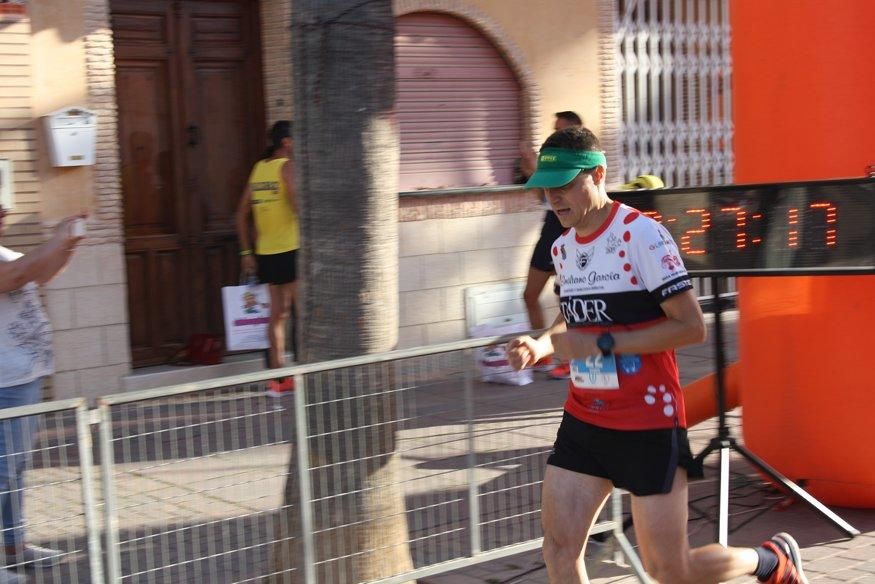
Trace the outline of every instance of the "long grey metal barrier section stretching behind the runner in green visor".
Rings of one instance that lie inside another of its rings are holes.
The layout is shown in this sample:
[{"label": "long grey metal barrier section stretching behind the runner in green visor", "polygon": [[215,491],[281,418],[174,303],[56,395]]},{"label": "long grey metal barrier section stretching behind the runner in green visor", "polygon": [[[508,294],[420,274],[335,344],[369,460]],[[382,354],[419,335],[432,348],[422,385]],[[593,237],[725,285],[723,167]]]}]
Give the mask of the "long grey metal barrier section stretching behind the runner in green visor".
[{"label": "long grey metal barrier section stretching behind the runner in green visor", "polygon": [[[90,553],[69,553],[45,581],[103,582],[101,527],[113,583],[400,584],[540,547],[565,391],[477,379],[473,350],[500,340],[102,398],[104,523],[89,523]],[[277,374],[297,391],[266,396]],[[82,451],[90,433],[77,435]],[[615,494],[596,531],[613,531],[646,581],[621,522]],[[81,550],[85,536],[61,547]]]}]

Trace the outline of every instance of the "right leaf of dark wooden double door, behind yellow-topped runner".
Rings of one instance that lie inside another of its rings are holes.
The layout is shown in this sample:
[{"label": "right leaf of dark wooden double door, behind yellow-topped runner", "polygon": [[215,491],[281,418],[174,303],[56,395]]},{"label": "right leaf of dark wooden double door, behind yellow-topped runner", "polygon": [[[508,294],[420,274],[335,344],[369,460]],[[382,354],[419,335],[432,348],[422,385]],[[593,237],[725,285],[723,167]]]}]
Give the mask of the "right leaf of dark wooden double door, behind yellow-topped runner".
[{"label": "right leaf of dark wooden double door, behind yellow-topped runner", "polygon": [[197,330],[222,323],[221,287],[236,283],[239,256],[234,211],[250,168],[264,143],[262,93],[253,83],[260,51],[252,50],[253,11],[245,2],[182,3],[183,42],[189,55],[185,100],[197,146],[188,149],[191,228],[196,301],[191,307]]}]

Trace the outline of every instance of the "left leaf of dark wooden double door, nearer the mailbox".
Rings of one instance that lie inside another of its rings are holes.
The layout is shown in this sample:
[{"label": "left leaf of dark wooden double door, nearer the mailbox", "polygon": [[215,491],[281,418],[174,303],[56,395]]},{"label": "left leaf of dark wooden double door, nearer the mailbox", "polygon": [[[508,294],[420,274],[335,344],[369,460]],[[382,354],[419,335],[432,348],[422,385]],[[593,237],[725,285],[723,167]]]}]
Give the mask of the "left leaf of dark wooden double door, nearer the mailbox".
[{"label": "left leaf of dark wooden double door, nearer the mailbox", "polygon": [[112,4],[124,200],[128,310],[134,365],[160,363],[185,343],[184,314],[164,306],[188,295],[187,211],[181,204],[179,67],[173,3]]}]

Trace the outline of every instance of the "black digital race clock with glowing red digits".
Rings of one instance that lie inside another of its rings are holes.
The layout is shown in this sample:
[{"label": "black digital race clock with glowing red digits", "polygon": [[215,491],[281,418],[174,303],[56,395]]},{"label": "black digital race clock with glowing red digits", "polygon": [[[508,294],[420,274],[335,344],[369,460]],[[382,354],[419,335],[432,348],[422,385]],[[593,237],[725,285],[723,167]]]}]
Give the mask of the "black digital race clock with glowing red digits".
[{"label": "black digital race clock with glowing red digits", "polygon": [[697,276],[875,274],[875,180],[613,192],[662,223]]}]

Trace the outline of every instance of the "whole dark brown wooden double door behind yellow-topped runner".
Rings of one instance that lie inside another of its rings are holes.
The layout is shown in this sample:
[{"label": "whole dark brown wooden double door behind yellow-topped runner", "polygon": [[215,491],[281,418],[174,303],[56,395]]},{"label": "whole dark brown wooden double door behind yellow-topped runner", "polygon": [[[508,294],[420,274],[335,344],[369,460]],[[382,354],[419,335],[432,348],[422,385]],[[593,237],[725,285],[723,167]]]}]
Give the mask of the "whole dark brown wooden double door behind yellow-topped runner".
[{"label": "whole dark brown wooden double door behind yellow-topped runner", "polygon": [[112,0],[134,366],[222,332],[234,209],[264,144],[255,0]]}]

